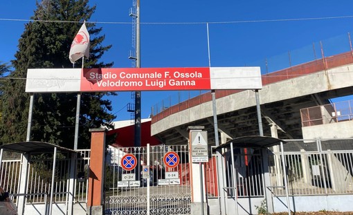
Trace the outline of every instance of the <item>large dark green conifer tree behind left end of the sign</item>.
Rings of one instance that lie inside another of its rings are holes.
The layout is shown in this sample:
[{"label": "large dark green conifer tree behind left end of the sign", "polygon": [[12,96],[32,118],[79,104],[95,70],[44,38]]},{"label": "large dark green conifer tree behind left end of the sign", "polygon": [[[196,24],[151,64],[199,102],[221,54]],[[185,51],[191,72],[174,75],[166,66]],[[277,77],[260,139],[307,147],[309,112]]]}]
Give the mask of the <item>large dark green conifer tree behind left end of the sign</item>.
[{"label": "large dark green conifer tree behind left end of the sign", "polygon": [[[28,68],[72,68],[69,61],[71,42],[96,10],[88,0],[44,0],[37,3],[33,19],[25,25],[19,39],[18,51],[12,65],[15,70],[8,75],[2,87],[2,113],[0,123],[1,144],[26,140],[29,97],[25,93]],[[111,48],[102,42],[102,28],[87,23],[91,35],[90,56],[85,68],[103,68],[111,63],[100,62],[100,57]],[[115,93],[83,93],[80,109],[80,134],[78,149],[89,147],[90,128],[98,128],[114,120],[111,102],[105,95]],[[77,94],[35,94],[33,126],[30,140],[59,144],[73,149]]]}]

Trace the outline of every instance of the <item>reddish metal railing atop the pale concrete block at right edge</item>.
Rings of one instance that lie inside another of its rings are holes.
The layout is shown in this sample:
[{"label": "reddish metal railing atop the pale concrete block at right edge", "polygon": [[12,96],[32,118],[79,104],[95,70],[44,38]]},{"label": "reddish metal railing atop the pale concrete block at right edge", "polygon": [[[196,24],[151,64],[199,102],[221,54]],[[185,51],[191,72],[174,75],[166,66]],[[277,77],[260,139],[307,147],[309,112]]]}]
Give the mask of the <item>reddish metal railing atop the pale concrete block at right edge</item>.
[{"label": "reddish metal railing atop the pale concrete block at right edge", "polygon": [[353,100],[300,109],[302,127],[353,120]]}]

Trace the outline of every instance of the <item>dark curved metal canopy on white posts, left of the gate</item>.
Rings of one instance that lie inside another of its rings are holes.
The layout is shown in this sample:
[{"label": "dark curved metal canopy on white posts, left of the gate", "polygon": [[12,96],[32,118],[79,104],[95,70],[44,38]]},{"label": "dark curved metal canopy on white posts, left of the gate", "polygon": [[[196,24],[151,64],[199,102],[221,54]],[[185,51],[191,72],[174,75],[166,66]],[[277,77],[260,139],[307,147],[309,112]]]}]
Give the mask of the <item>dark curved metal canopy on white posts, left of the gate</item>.
[{"label": "dark curved metal canopy on white posts, left of the gate", "polygon": [[[54,192],[54,178],[55,178],[55,165],[56,165],[56,155],[57,151],[69,151],[71,153],[76,153],[75,150],[73,149],[67,149],[65,147],[60,147],[56,144],[52,144],[49,142],[36,142],[36,141],[28,141],[28,142],[13,142],[9,144],[3,144],[0,146],[0,169],[1,169],[1,164],[2,164],[2,158],[3,158],[3,151],[13,151],[13,152],[18,152],[18,153],[23,153],[26,155],[26,159],[28,161],[28,158],[30,156],[30,153],[51,153],[53,152],[53,174],[52,174],[52,179],[51,179],[51,202],[49,204],[49,214],[52,214],[53,210],[53,192]],[[24,177],[24,180],[27,180],[27,174],[28,171],[26,171],[27,162],[24,162],[22,164],[21,169],[25,169],[25,171],[22,171],[23,174],[26,174]],[[73,171],[71,169],[71,171]],[[71,176],[74,176],[74,174],[70,174]],[[22,182],[21,182],[22,184]],[[27,194],[27,189],[26,189],[26,183],[24,183],[24,187],[22,191],[24,191],[24,194]],[[21,190],[21,188],[20,188]],[[24,212],[24,203],[25,203],[25,198],[22,198],[19,200],[19,214],[23,214]]]}]

